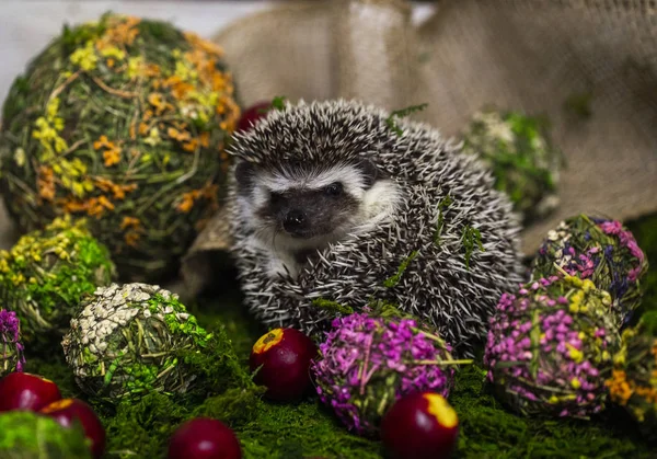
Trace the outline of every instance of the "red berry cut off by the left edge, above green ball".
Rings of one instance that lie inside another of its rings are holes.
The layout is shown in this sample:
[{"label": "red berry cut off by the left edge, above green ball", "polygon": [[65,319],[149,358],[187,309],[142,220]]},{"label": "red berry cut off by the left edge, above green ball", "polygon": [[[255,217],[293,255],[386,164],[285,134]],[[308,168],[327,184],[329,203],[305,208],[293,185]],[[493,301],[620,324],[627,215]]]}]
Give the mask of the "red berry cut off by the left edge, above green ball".
[{"label": "red berry cut off by the left edge, above green ball", "polygon": [[57,385],[41,376],[14,371],[0,379],[0,412],[38,411],[59,399]]}]

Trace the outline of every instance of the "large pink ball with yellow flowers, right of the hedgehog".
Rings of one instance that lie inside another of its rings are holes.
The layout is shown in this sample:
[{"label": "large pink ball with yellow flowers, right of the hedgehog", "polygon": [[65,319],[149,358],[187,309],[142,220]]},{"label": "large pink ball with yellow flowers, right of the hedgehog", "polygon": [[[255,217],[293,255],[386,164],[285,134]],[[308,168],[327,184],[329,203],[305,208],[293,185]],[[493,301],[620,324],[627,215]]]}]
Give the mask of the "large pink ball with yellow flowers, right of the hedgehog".
[{"label": "large pink ball with yellow flowers, right of the hedgehog", "polygon": [[502,400],[523,415],[585,418],[600,412],[621,340],[610,303],[608,292],[572,276],[504,294],[484,354]]}]

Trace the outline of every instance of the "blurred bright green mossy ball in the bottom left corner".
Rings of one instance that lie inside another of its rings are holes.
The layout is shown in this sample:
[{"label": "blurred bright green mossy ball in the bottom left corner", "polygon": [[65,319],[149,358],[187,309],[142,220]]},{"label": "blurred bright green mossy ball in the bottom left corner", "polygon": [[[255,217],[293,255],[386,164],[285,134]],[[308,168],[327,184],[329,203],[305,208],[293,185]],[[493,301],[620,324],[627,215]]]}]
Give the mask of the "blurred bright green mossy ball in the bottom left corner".
[{"label": "blurred bright green mossy ball in the bottom left corner", "polygon": [[62,427],[31,411],[0,414],[0,458],[91,459],[82,427]]}]

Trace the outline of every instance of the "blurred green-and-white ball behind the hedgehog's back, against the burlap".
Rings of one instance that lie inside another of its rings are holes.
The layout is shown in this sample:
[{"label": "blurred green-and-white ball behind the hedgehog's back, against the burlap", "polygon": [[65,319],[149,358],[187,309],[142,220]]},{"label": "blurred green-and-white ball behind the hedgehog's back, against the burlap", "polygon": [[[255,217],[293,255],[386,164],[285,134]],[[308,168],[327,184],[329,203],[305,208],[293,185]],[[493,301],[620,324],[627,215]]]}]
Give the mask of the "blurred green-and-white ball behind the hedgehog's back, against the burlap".
[{"label": "blurred green-and-white ball behind the hedgehog's back, against the burlap", "polygon": [[525,222],[556,208],[562,159],[540,118],[517,112],[479,112],[462,139],[463,151],[477,154],[491,168],[495,187],[510,197]]}]

